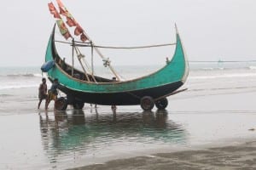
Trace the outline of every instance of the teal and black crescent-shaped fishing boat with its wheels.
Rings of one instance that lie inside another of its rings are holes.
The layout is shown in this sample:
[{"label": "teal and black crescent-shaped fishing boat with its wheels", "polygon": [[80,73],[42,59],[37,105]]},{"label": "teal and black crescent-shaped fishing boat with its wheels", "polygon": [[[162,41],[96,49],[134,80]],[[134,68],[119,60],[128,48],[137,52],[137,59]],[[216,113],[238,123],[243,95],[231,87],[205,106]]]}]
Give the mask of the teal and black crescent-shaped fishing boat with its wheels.
[{"label": "teal and black crescent-shaped fishing boat with its wheels", "polygon": [[[64,36],[63,33],[61,34]],[[75,42],[74,39],[70,42],[70,46],[73,48],[72,57],[76,53],[81,65],[84,57],[80,53],[79,47],[96,48],[96,52],[99,52],[87,34],[85,37],[87,43]],[[47,73],[51,82],[58,78],[59,90],[67,94],[66,97],[57,99],[55,108],[63,111],[67,109],[67,105],[73,105],[75,109],[82,109],[84,103],[88,103],[95,105],[141,105],[145,111],[152,110],[154,105],[158,109],[165,109],[168,105],[166,97],[184,91],[185,89],[178,89],[186,82],[189,74],[188,61],[177,29],[176,37],[175,53],[171,60],[166,60],[166,64],[160,70],[143,77],[123,81],[113,70],[109,59],[103,57],[103,65],[108,66],[113,71],[116,79],[96,76],[93,71],[87,70],[83,65],[83,71],[80,71],[73,64],[67,64],[57,52],[54,26],[49,37],[45,63],[42,66],[44,69],[42,70]]]}]

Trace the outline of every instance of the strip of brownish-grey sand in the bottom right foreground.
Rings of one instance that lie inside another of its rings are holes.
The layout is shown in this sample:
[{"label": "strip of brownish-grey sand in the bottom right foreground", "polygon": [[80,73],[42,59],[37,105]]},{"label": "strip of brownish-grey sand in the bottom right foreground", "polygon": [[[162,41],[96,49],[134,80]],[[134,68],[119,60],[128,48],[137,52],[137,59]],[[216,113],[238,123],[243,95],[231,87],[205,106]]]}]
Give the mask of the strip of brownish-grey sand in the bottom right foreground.
[{"label": "strip of brownish-grey sand in the bottom right foreground", "polygon": [[108,161],[104,164],[73,168],[73,170],[197,170],[197,169],[256,169],[256,140],[243,144],[183,150]]}]

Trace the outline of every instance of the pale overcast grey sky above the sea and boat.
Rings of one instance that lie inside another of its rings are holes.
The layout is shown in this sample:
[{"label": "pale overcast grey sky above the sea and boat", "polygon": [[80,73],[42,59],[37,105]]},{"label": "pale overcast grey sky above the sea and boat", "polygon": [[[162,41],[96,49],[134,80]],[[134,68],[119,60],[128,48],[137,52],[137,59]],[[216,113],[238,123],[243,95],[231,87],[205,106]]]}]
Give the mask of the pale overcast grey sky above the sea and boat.
[{"label": "pale overcast grey sky above the sea and boat", "polygon": [[[177,23],[189,60],[256,59],[255,0],[62,2],[99,45],[137,46],[175,42],[174,24]],[[4,1],[0,11],[0,66],[43,64],[49,34],[55,22],[47,3],[48,0]],[[166,56],[172,57],[173,54],[169,48],[102,52],[113,61],[113,65],[161,63]],[[68,53],[63,55],[67,57]]]}]

